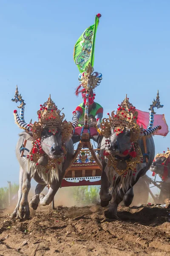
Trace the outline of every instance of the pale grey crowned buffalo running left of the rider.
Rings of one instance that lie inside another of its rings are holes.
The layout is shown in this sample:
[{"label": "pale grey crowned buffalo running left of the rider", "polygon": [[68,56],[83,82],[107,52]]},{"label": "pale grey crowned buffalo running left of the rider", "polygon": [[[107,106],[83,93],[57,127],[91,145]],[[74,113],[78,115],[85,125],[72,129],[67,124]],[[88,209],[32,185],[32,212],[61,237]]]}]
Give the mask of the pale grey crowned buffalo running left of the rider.
[{"label": "pale grey crowned buffalo running left of the rider", "polygon": [[[77,125],[77,117],[74,115],[72,123],[63,121],[64,114],[60,115],[51,98],[37,113],[39,122],[34,122],[32,125],[21,121],[17,111],[14,111],[17,125],[26,131],[19,134],[20,138],[16,146],[20,177],[18,202],[11,218],[29,217],[28,192],[32,177],[38,184],[30,206],[37,209],[39,202],[42,205],[48,205],[53,201],[74,154],[71,133]],[[20,157],[20,147],[24,140],[27,140],[26,148],[29,154],[26,157]],[[47,184],[50,184],[48,194],[40,194]]]}]

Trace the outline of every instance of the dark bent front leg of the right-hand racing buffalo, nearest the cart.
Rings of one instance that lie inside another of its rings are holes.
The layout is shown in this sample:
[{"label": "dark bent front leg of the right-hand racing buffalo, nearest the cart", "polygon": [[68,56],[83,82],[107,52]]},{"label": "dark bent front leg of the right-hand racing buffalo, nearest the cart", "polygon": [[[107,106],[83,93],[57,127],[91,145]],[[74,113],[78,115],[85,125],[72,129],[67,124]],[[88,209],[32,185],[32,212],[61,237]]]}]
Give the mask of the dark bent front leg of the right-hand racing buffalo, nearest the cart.
[{"label": "dark bent front leg of the right-hand racing buffalo, nearest the cart", "polygon": [[100,205],[102,207],[105,207],[109,204],[109,202],[111,201],[111,194],[108,192],[109,189],[109,181],[108,181],[108,177],[105,173],[105,166],[106,163],[103,164],[103,169],[102,169],[102,177],[101,177],[101,188],[100,188]]}]

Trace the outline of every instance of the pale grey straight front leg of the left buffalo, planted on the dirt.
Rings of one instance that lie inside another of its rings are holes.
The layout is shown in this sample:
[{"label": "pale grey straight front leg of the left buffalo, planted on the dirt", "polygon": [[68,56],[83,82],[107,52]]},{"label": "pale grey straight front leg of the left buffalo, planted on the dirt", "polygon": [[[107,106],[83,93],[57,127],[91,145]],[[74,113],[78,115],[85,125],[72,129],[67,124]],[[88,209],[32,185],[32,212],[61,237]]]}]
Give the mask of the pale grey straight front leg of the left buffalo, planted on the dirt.
[{"label": "pale grey straight front leg of the left buffalo, planted on the dirt", "polygon": [[20,219],[26,219],[30,215],[29,204],[28,204],[28,192],[31,188],[31,175],[27,172],[23,172],[23,186],[22,186],[22,198],[19,207],[19,217]]}]

